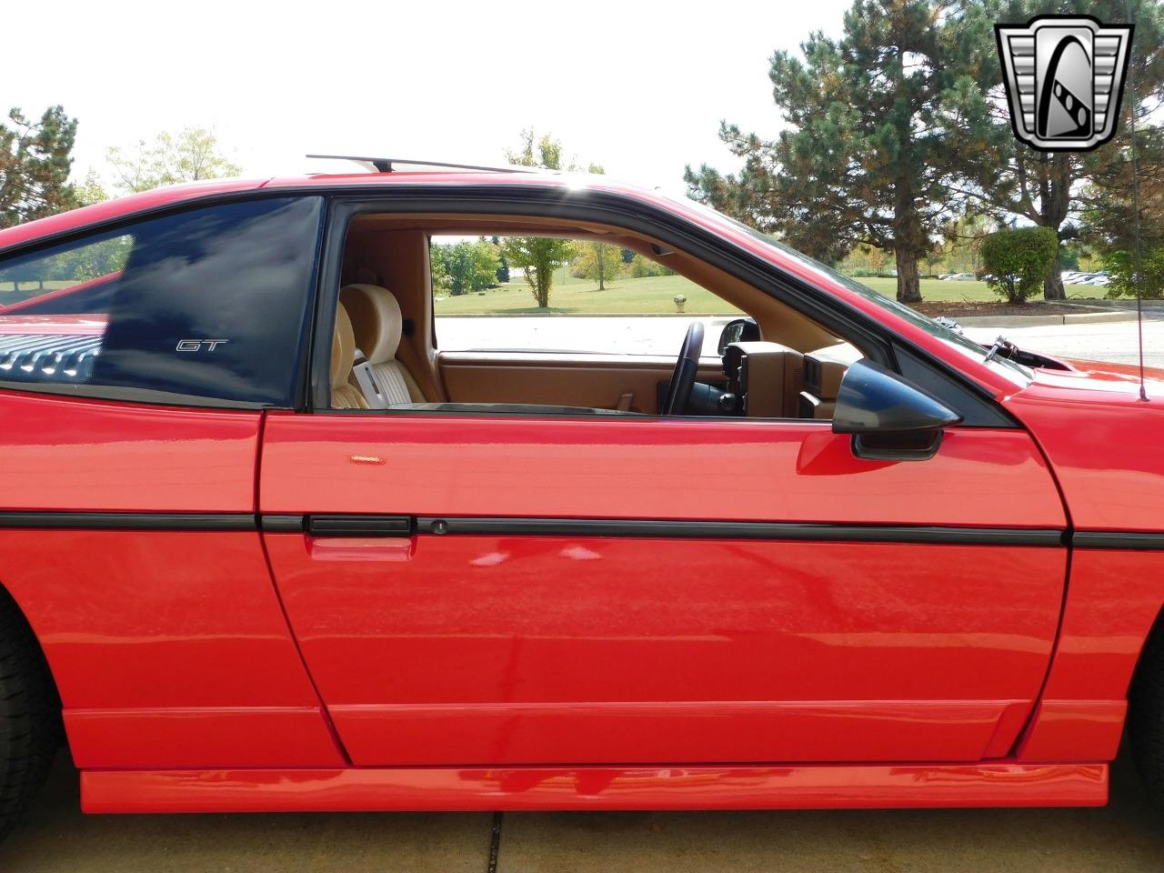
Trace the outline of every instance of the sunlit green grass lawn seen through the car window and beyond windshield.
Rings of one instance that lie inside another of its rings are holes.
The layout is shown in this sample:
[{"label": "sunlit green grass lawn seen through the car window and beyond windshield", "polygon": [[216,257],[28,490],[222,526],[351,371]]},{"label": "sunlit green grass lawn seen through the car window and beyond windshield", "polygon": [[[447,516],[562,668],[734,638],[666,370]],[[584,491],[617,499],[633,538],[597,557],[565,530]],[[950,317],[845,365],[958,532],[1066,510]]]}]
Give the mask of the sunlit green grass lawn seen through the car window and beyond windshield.
[{"label": "sunlit green grass lawn seen through the car window and beyond windshield", "polygon": [[[897,281],[892,278],[858,279],[874,291],[893,297],[897,292]],[[684,312],[694,315],[736,314],[739,310],[730,306],[710,291],[684,279],[682,276],[650,276],[641,279],[618,278],[606,283],[598,291],[596,283],[554,274],[554,286],[549,292],[549,308],[539,310],[533,305],[533,294],[520,276],[501,288],[483,293],[446,297],[436,301],[438,315],[460,314],[523,314],[553,312],[565,315],[603,314],[675,314],[676,293],[687,297]],[[930,301],[996,301],[999,298],[985,282],[943,282],[922,279],[922,298]]]}]

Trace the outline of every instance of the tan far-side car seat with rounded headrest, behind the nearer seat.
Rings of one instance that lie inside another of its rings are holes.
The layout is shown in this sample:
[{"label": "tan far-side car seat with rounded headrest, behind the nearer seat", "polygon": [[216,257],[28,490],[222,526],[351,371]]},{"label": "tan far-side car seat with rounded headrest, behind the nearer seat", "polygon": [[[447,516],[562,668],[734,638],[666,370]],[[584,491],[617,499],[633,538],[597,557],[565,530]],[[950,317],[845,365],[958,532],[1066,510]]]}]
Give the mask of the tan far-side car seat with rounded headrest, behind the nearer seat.
[{"label": "tan far-side car seat with rounded headrest, behind the nearer seat", "polygon": [[354,284],[340,290],[341,305],[352,315],[355,345],[367,362],[371,383],[363,381],[363,398],[372,409],[427,398],[407,368],[397,360],[404,321],[400,304],[386,288]]}]

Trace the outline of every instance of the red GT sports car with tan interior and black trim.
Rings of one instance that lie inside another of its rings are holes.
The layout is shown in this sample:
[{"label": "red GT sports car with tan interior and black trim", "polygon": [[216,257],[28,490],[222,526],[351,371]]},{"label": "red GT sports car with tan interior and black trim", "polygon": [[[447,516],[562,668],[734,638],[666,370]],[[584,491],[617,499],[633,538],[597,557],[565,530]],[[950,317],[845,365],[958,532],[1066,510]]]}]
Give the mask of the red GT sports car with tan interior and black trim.
[{"label": "red GT sports car with tan interior and black trim", "polygon": [[[1126,721],[1164,786],[1164,372],[371,163],[0,233],[5,828],[62,744],[94,812],[1088,805]],[[613,247],[681,347],[433,237]]]}]

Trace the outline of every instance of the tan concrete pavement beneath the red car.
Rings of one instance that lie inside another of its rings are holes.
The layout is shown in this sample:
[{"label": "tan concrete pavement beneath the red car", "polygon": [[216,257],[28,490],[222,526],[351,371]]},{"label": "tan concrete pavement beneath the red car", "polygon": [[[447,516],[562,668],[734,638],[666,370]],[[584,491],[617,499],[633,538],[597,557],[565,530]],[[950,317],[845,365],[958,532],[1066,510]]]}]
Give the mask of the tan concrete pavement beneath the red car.
[{"label": "tan concrete pavement beneath the red car", "polygon": [[[1164,828],[1116,764],[1103,809],[505,814],[502,873],[1159,873]],[[81,816],[62,760],[0,846],[13,873],[489,870],[494,818],[466,814]]]}]

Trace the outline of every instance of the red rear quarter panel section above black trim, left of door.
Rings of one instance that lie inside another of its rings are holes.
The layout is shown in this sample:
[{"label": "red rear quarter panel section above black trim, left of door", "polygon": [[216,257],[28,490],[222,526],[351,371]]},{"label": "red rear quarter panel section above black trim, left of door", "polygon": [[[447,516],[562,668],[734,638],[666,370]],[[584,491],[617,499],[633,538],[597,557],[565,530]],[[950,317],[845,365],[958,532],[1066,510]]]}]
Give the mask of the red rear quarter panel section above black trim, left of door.
[{"label": "red rear quarter panel section above black trim, left of door", "polygon": [[0,390],[0,510],[254,512],[257,412]]}]

